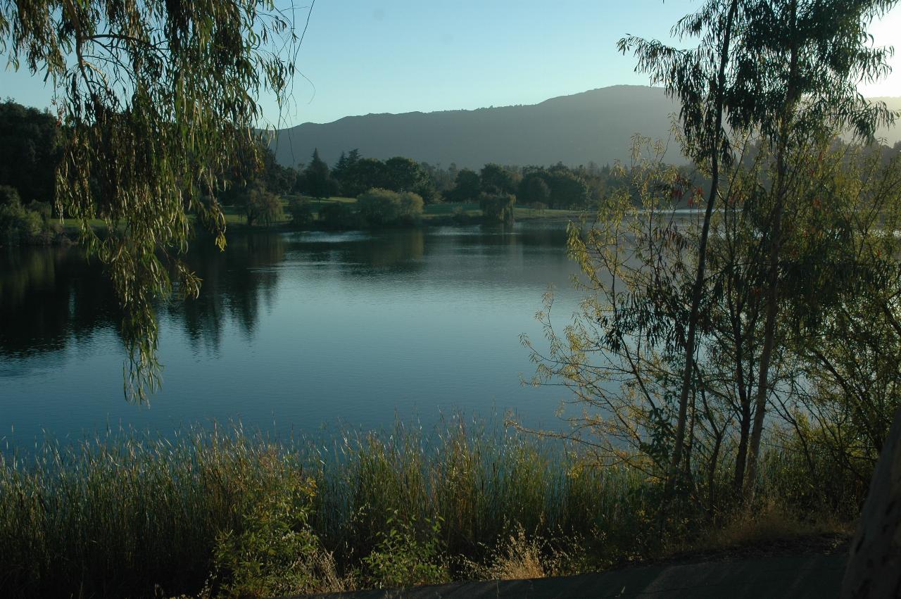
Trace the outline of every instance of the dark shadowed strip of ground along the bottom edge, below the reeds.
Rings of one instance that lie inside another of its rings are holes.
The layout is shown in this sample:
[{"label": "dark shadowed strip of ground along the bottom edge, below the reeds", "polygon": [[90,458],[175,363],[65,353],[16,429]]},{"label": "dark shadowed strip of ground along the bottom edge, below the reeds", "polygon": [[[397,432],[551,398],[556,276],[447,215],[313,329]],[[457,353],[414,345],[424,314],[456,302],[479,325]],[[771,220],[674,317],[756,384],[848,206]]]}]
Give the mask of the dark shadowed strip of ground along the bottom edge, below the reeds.
[{"label": "dark shadowed strip of ground along the bottom edge, below the reeds", "polygon": [[835,537],[694,554],[640,567],[533,580],[310,595],[325,599],[766,599],[838,597],[848,544]]}]

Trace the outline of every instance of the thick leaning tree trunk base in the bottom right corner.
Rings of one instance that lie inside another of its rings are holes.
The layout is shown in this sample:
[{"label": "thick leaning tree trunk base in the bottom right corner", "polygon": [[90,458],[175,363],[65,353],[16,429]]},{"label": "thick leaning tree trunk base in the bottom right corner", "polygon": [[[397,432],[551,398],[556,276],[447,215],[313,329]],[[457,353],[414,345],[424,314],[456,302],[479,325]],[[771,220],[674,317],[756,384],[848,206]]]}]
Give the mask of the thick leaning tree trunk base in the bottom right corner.
[{"label": "thick leaning tree trunk base in the bottom right corner", "polygon": [[842,599],[901,597],[901,408],[869,484]]}]

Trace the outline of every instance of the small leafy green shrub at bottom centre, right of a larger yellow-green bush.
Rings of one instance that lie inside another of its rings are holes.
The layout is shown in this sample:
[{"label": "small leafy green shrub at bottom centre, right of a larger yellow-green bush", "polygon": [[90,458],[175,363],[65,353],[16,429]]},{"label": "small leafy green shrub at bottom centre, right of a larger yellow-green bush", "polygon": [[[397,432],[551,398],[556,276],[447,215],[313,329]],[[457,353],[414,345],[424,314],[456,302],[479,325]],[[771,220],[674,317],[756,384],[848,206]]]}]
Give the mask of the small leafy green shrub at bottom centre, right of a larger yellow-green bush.
[{"label": "small leafy green shrub at bottom centre, right of a larger yellow-green bush", "polygon": [[390,529],[378,532],[376,548],[363,558],[370,584],[376,588],[433,585],[450,575],[441,551],[441,520],[427,528],[426,539],[416,539],[416,521],[399,521],[397,511],[387,520]]}]

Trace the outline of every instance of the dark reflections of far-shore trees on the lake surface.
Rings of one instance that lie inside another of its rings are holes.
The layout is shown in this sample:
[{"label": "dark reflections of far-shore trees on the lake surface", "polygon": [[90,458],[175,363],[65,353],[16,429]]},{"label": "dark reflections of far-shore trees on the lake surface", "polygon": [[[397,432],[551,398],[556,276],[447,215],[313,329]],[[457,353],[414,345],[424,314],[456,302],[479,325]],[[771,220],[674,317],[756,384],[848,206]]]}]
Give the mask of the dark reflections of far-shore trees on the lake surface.
[{"label": "dark reflections of far-shore trees on the lake surface", "polygon": [[[428,242],[426,241],[428,239]],[[252,336],[260,311],[274,302],[281,268],[304,264],[337,268],[346,277],[384,277],[432,268],[467,280],[516,278],[547,283],[556,278],[531,264],[530,253],[555,252],[565,244],[560,226],[474,225],[376,232],[268,231],[234,234],[220,251],[196,241],[186,261],[203,279],[200,295],[161,306],[192,342],[219,347],[223,326],[235,322]],[[502,258],[501,269],[472,268],[467,260]],[[519,264],[517,264],[519,262]],[[519,268],[517,268],[519,267]],[[63,349],[93,331],[118,331],[121,313],[113,288],[96,261],[78,248],[6,248],[0,251],[0,354],[25,358]]]}]

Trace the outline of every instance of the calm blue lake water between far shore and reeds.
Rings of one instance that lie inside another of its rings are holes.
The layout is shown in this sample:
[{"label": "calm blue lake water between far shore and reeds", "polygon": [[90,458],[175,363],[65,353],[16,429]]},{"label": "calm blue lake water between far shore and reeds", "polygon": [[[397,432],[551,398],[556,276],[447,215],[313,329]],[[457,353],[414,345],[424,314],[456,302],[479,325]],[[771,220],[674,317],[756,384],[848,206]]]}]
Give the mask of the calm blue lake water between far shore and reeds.
[{"label": "calm blue lake water between far shore and reeds", "polygon": [[558,426],[559,387],[523,387],[521,333],[557,287],[578,301],[565,224],[376,233],[232,235],[194,244],[201,296],[160,309],[163,388],[123,398],[119,314],[96,264],[74,249],[0,249],[0,439],[107,427],[168,434],[240,420],[268,431],[423,425],[441,414]]}]

